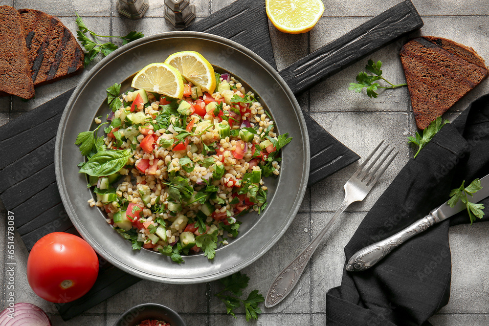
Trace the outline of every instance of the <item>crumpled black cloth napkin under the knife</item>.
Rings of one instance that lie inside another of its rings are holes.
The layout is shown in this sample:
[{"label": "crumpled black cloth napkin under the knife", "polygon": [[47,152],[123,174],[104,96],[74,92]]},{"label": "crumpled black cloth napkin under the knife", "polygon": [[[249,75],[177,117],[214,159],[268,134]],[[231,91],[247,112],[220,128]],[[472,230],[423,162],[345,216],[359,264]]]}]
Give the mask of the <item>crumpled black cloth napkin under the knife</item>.
[{"label": "crumpled black cloth napkin under the knife", "polygon": [[[427,215],[462,181],[489,174],[489,95],[445,125],[400,171],[345,247],[350,257]],[[489,199],[482,200],[489,219]],[[343,270],[341,285],[326,295],[331,325],[431,325],[448,303],[451,257],[448,227],[469,223],[466,211],[430,227],[363,272]],[[346,265],[346,264],[345,264]]]}]

